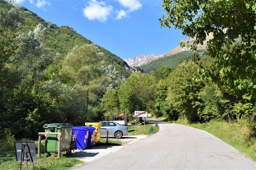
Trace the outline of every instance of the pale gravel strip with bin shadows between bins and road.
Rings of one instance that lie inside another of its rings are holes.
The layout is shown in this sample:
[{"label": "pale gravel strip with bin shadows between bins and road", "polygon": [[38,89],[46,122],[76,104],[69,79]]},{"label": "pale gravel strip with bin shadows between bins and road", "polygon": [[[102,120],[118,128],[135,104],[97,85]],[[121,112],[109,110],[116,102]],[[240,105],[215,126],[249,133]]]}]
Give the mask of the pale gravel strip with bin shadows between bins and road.
[{"label": "pale gravel strip with bin shadows between bins and road", "polygon": [[100,145],[98,147],[93,147],[91,149],[86,150],[75,150],[75,153],[72,153],[73,158],[77,158],[81,161],[89,163],[93,160],[106,156],[108,154],[112,154],[127,145],[131,145],[139,140],[146,138],[147,135],[137,135],[137,136],[123,136],[121,139],[109,138],[110,140],[119,140],[124,144],[120,146],[106,146]]}]

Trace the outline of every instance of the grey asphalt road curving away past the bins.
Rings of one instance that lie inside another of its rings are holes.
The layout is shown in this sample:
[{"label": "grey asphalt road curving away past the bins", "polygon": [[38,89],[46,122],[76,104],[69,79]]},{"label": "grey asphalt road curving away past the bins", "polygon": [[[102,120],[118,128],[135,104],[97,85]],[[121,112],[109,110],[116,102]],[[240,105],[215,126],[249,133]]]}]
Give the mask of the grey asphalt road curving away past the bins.
[{"label": "grey asphalt road curving away past the bins", "polygon": [[255,162],[207,132],[158,125],[158,133],[76,169],[256,169]]}]

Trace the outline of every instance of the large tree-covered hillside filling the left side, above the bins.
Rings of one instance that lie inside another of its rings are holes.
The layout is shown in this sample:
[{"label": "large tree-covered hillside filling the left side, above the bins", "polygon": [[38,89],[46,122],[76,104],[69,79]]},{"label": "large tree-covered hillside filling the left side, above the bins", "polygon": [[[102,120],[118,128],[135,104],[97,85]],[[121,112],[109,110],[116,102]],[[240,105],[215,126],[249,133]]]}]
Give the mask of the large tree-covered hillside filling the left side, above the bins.
[{"label": "large tree-covered hillside filling the left side, above the bins", "polygon": [[0,1],[0,143],[36,138],[46,123],[102,120],[101,99],[129,77],[129,65],[10,2]]}]

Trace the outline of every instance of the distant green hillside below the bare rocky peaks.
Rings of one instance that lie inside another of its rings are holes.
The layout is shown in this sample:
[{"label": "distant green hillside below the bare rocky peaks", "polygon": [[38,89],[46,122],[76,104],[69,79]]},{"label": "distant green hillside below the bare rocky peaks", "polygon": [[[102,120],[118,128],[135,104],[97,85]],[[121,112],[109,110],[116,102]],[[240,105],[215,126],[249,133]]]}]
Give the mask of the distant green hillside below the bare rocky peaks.
[{"label": "distant green hillside below the bare rocky peaks", "polygon": [[[202,58],[204,57],[203,52],[205,52],[205,50],[197,50],[196,52],[199,53]],[[162,57],[145,65],[141,65],[140,67],[145,70],[147,74],[152,74],[155,70],[163,66],[176,67],[181,59],[189,60],[192,54],[193,52],[191,51],[184,51],[172,56]]]}]

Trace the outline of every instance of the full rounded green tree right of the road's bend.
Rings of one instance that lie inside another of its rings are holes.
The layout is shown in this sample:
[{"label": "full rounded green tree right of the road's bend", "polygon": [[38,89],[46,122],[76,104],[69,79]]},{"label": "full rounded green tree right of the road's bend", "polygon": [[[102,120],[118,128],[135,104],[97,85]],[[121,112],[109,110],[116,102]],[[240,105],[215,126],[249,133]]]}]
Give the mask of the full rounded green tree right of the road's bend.
[{"label": "full rounded green tree right of the road's bend", "polygon": [[197,69],[199,66],[194,62],[183,62],[177,66],[168,79],[169,88],[166,100],[175,110],[185,115],[189,122],[200,120],[198,109],[202,101],[198,94],[204,84],[199,80]]}]

